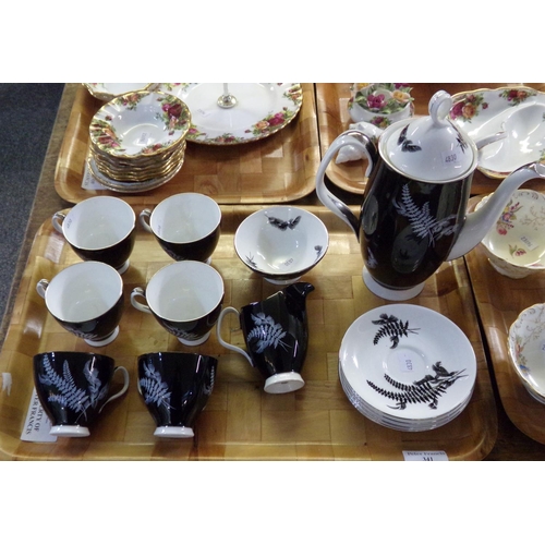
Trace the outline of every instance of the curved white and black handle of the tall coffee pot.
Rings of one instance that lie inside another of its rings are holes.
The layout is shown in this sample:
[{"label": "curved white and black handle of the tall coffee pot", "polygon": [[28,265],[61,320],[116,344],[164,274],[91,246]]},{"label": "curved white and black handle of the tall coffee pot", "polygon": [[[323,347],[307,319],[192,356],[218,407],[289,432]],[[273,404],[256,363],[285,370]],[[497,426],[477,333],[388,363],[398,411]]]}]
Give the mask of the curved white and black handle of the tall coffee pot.
[{"label": "curved white and black handle of the tall coffee pot", "polygon": [[325,175],[326,169],[331,162],[337,152],[344,146],[353,146],[367,158],[367,173],[372,171],[376,165],[378,153],[373,142],[362,131],[351,129],[346,131],[334,140],[328,150],[324,155],[316,173],[316,193],[322,204],[329,208],[336,216],[344,221],[356,237],[360,237],[360,220],[355,217],[352,210],[338,197],[336,197],[326,186]]}]

